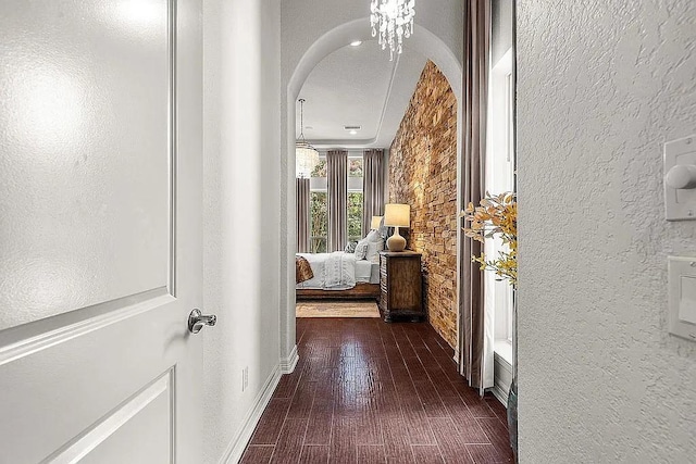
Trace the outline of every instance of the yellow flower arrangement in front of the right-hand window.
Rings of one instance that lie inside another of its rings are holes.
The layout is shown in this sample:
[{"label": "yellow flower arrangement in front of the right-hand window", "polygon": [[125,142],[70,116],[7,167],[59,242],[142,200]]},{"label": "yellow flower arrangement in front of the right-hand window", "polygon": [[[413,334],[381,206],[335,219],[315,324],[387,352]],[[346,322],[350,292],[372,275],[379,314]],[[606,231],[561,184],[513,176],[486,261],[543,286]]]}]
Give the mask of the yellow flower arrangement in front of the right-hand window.
[{"label": "yellow flower arrangement in front of the right-hand window", "polygon": [[486,197],[481,200],[481,205],[474,208],[469,203],[461,212],[460,217],[471,223],[464,227],[464,235],[484,242],[486,238],[493,238],[499,234],[507,250],[498,252],[497,260],[486,260],[485,253],[481,256],[471,256],[471,261],[481,264],[481,269],[495,271],[496,275],[510,281],[512,287],[518,285],[518,203],[514,193],[505,192]]}]

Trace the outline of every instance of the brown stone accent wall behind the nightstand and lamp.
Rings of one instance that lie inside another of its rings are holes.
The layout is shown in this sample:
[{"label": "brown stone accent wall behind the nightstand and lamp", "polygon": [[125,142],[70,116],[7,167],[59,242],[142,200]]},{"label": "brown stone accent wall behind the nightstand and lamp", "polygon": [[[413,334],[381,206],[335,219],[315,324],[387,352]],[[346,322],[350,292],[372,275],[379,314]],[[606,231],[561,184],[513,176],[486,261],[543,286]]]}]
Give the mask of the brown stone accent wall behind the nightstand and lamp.
[{"label": "brown stone accent wall behind the nightstand and lamp", "polygon": [[[427,62],[389,151],[389,202],[411,205],[407,247],[423,253],[431,325],[457,343],[457,99]],[[406,235],[405,235],[406,237]]]}]

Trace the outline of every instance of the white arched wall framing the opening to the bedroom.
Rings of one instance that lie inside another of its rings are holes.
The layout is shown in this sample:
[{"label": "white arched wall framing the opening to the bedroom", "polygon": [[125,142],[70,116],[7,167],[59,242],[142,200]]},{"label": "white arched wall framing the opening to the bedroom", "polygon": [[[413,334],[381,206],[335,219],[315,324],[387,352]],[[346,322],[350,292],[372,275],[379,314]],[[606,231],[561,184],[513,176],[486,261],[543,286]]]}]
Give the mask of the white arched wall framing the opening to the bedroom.
[{"label": "white arched wall framing the opening to the bedroom", "polygon": [[[302,64],[321,59],[330,52],[350,42],[351,39],[368,40],[370,34],[370,2],[345,0],[283,0],[282,1],[282,66],[281,66],[281,234],[286,237],[281,246],[283,276],[281,280],[281,308],[285,309],[281,318],[281,352],[288,356],[295,346],[295,299],[294,259],[295,230],[295,159],[288,151],[295,137],[295,105],[303,78],[310,68]],[[355,23],[359,22],[356,33]],[[364,22],[364,27],[362,26]],[[430,58],[445,73],[452,88],[461,91],[461,58],[463,50],[463,3],[461,0],[427,0],[417,5],[415,35],[407,39],[405,47],[417,47],[424,57]],[[339,29],[339,30],[336,30]],[[345,33],[345,34],[344,34]],[[327,37],[331,36],[331,40]],[[338,38],[339,42],[334,42]],[[320,40],[323,39],[323,40]],[[340,41],[343,40],[343,41]],[[318,42],[322,47],[314,47]],[[443,46],[444,43],[444,46]],[[420,47],[420,48],[419,48]],[[302,60],[303,57],[312,60]],[[388,58],[387,58],[388,59]],[[293,79],[294,74],[296,79]],[[289,88],[293,87],[293,88]],[[461,106],[461,99],[458,99]],[[291,166],[291,170],[288,170]]]}]

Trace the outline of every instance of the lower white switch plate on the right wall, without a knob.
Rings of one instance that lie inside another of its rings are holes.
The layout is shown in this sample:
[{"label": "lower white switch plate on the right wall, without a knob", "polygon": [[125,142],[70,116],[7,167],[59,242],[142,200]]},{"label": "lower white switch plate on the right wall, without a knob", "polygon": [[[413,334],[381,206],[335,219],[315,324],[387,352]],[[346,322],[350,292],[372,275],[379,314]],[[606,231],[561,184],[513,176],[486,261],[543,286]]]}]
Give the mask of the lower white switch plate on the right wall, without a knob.
[{"label": "lower white switch plate on the right wall, without a knob", "polygon": [[669,331],[696,341],[696,258],[668,256]]}]

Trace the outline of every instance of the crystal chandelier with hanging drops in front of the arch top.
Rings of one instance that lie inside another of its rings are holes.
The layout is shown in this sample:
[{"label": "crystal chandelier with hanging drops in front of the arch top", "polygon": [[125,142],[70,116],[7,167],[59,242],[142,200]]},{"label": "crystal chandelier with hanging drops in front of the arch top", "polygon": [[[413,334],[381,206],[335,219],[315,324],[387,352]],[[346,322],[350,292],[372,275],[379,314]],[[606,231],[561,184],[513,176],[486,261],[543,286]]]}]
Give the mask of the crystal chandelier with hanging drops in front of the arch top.
[{"label": "crystal chandelier with hanging drops in front of the arch top", "polygon": [[388,45],[389,61],[393,61],[395,51],[401,53],[403,37],[413,34],[415,0],[372,0],[370,11],[372,37],[380,32],[382,50]]}]

